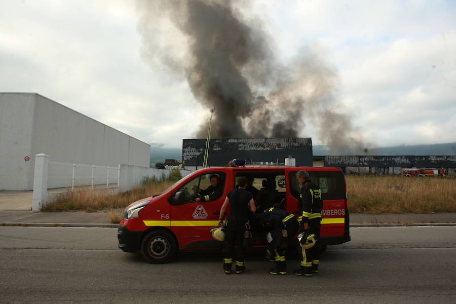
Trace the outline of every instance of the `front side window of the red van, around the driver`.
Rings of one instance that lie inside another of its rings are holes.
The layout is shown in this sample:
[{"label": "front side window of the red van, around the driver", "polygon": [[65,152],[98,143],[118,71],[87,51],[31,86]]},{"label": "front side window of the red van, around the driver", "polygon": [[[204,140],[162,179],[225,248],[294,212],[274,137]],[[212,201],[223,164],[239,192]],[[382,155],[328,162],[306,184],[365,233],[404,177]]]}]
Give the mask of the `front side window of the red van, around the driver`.
[{"label": "front side window of the red van, around the driver", "polygon": [[[182,205],[195,202],[195,199],[201,195],[201,192],[204,193],[204,191],[211,186],[211,177],[213,176],[218,177],[218,186],[221,188],[221,196],[223,194],[223,186],[225,184],[225,173],[213,172],[199,175],[179,187],[179,189],[171,195],[170,204]],[[220,196],[214,198],[213,200],[219,199]]]}]

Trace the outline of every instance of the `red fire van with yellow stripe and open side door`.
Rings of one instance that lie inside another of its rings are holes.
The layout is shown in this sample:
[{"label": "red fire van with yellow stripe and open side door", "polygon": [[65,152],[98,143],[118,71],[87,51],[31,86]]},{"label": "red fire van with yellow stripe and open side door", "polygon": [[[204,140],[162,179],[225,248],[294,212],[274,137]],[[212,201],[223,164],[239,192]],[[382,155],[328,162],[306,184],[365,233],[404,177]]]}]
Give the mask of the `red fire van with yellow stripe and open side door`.
[{"label": "red fire van with yellow stripe and open side door", "polygon": [[[151,263],[166,263],[178,250],[221,248],[222,243],[212,238],[210,230],[217,226],[220,207],[241,176],[253,179],[253,186],[258,190],[255,203],[261,205],[260,201],[264,199],[261,192],[268,193],[268,199],[273,200],[269,204],[281,203],[284,209],[298,216],[300,184],[295,175],[301,169],[307,170],[321,189],[322,245],[350,241],[346,182],[340,168],[214,167],[197,170],[162,194],[130,204],[119,223],[119,248],[126,252],[141,252]],[[205,202],[196,201],[195,189],[208,187],[213,175],[219,179],[221,196]],[[254,246],[267,245],[265,233],[261,229],[256,231],[254,223],[251,231]]]}]

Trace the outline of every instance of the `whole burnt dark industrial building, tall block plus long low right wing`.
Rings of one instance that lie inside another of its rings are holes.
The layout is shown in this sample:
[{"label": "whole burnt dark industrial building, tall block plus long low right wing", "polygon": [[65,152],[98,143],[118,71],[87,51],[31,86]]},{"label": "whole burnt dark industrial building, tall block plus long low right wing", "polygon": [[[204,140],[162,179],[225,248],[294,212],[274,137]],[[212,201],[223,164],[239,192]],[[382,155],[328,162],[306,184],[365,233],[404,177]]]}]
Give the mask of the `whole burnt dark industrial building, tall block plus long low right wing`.
[{"label": "whole burnt dark industrial building, tall block plus long low right wing", "polygon": [[[206,139],[184,139],[183,166],[202,168]],[[311,138],[231,138],[210,139],[208,167],[226,166],[232,159],[245,159],[247,165],[295,165],[340,167],[347,174],[399,174],[402,168],[444,168],[455,174],[456,156],[312,156]],[[293,164],[285,164],[291,156]]]}]

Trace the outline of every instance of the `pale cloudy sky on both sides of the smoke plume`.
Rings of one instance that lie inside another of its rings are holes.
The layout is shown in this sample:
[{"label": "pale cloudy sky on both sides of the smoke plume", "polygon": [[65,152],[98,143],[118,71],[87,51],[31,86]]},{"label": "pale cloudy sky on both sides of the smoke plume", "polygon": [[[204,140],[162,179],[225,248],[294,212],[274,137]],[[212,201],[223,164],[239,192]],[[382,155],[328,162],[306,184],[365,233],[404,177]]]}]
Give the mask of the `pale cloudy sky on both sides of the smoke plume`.
[{"label": "pale cloudy sky on both sides of the smoke plume", "polygon": [[[144,55],[140,4],[0,0],[0,92],[36,92],[141,141],[181,147],[210,110],[185,79]],[[278,60],[318,52],[337,77],[330,106],[369,143],[456,142],[456,1],[255,0],[235,8],[267,34]],[[185,51],[171,30],[157,39],[176,41],[170,53]],[[312,124],[299,136],[325,143]]]}]

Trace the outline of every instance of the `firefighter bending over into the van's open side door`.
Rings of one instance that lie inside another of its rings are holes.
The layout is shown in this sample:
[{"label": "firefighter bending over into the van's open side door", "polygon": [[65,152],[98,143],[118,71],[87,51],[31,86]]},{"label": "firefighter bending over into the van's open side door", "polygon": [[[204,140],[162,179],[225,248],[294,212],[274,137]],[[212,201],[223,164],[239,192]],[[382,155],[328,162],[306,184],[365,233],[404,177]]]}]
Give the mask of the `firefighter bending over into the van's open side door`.
[{"label": "firefighter bending over into the van's open side door", "polygon": [[269,273],[271,275],[286,275],[285,250],[291,245],[291,241],[298,232],[299,222],[293,213],[277,207],[264,210],[260,219],[264,226],[270,230],[272,240],[269,242],[268,251],[275,254],[276,267],[270,269]]}]

